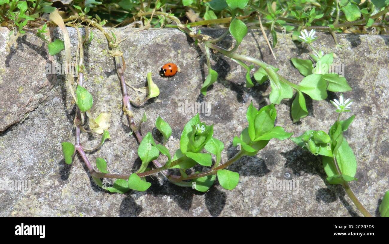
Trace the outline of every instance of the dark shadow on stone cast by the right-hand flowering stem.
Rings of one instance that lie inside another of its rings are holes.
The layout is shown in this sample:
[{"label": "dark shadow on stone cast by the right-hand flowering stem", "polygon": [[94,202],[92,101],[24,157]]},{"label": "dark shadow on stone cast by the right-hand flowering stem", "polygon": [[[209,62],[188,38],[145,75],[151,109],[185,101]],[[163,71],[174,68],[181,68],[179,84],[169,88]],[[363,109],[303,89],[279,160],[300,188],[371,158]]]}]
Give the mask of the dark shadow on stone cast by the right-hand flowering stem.
[{"label": "dark shadow on stone cast by the right-hand flowering stem", "polygon": [[290,168],[294,175],[298,177],[304,174],[317,175],[323,180],[327,188],[317,190],[315,194],[315,200],[317,202],[323,201],[328,204],[339,199],[352,217],[360,216],[354,211],[354,205],[351,205],[345,199],[346,192],[343,187],[340,185],[332,185],[327,182],[327,175],[322,166],[320,156],[314,156],[298,146],[290,151],[280,152],[280,154],[286,159],[285,167]]}]

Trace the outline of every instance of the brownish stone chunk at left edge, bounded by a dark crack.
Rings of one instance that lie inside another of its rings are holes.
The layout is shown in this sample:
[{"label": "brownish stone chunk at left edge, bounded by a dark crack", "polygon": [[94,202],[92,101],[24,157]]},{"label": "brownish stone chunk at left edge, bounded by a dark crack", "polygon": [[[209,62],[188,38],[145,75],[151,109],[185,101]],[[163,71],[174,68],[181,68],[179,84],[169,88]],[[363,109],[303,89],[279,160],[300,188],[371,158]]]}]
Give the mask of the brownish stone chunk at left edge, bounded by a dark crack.
[{"label": "brownish stone chunk at left edge, bounded by a dark crack", "polygon": [[28,117],[47,98],[56,77],[46,74],[49,59],[43,41],[25,35],[17,41],[18,47],[5,50],[9,30],[0,28],[0,132]]}]

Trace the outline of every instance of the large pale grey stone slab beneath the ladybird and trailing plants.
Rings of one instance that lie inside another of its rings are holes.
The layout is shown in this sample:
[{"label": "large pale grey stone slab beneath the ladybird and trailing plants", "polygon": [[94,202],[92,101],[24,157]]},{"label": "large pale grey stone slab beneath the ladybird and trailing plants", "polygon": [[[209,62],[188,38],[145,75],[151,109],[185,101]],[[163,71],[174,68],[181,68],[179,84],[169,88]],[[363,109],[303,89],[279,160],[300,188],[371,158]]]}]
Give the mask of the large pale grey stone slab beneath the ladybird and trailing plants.
[{"label": "large pale grey stone slab beneath the ladybird and trailing plants", "polygon": [[[148,121],[142,125],[142,134],[151,131],[156,140],[161,140],[154,126],[155,119],[161,115],[173,129],[172,138],[167,143],[173,154],[179,147],[183,126],[194,116],[190,112],[181,113],[180,103],[186,100],[207,102],[211,107],[209,116],[202,112],[200,117],[207,124],[215,124],[214,136],[225,144],[222,161],[232,157],[237,150],[231,141],[247,126],[247,106],[251,101],[256,107],[269,103],[269,83],[245,88],[245,70],[216,53],[212,54],[211,63],[219,72],[219,79],[204,97],[199,95],[207,74],[203,49],[184,33],[176,29],[114,31],[118,38],[128,37],[121,43],[127,64],[126,80],[135,87],[144,87],[146,74],[151,71],[161,90],[158,100],[147,102],[133,111],[137,120],[146,111]],[[223,31],[203,29],[202,33],[217,36]],[[76,32],[72,28],[69,32],[75,52]],[[4,33],[7,32],[2,29],[1,33],[0,46],[4,47]],[[54,30],[54,35],[59,35],[58,31]],[[378,215],[380,199],[389,189],[389,37],[338,35],[343,45],[340,48],[335,46],[331,35],[318,35],[315,47],[326,53],[335,53],[334,62],[344,64],[345,78],[353,88],[344,94],[355,100],[352,112],[357,114],[345,133],[358,162],[356,177],[359,180],[352,182],[351,187],[364,206],[373,215]],[[280,74],[298,83],[302,76],[289,60],[292,57],[308,58],[309,50],[294,43],[290,35],[279,33],[278,41],[274,49],[277,61],[270,55],[259,31],[250,31],[237,53],[251,55],[279,67]],[[231,37],[221,45],[231,47]],[[257,156],[243,157],[231,165],[229,169],[240,174],[240,183],[232,191],[224,190],[216,182],[209,192],[200,193],[177,187],[161,176],[148,178],[152,186],[146,192],[130,191],[120,195],[100,189],[91,180],[80,157],[75,156],[70,166],[64,163],[60,142],[74,142],[72,119],[75,106],[70,104],[64,76],[58,75],[54,80],[54,77],[44,75],[44,64],[49,62],[46,48],[40,41],[27,38],[22,39],[13,54],[3,55],[4,50],[1,50],[0,65],[7,71],[5,74],[1,71],[0,76],[1,104],[5,110],[12,111],[14,104],[10,102],[14,100],[9,97],[19,96],[17,87],[20,80],[24,79],[21,94],[28,92],[30,97],[41,94],[38,92],[40,87],[50,87],[37,84],[48,81],[54,87],[47,92],[47,99],[30,112],[23,123],[0,134],[0,179],[31,180],[32,184],[30,191],[0,191],[0,216],[361,216],[341,187],[326,182],[320,158],[296,147],[290,140],[272,140]],[[59,54],[56,59],[61,62],[63,57]],[[159,76],[158,71],[166,62],[175,62],[181,72],[172,78]],[[7,67],[7,63],[18,66]],[[91,91],[95,102],[92,113],[112,113],[112,139],[88,157],[92,162],[95,157],[105,158],[112,173],[133,172],[140,165],[137,141],[129,135],[121,110],[121,89],[114,62],[108,53],[106,40],[98,31],[85,49],[85,66],[88,72],[85,87]],[[10,83],[8,88],[4,87],[5,81]],[[134,97],[135,93],[131,91],[131,95]],[[296,124],[290,117],[291,100],[284,100],[277,106],[276,124],[296,135],[308,129],[327,131],[336,116],[329,100],[338,95],[329,93],[328,99],[323,101],[308,99],[309,116]],[[23,104],[16,106],[18,110],[8,116],[20,118],[27,111],[21,109]],[[3,121],[7,114],[3,116],[4,111],[0,112]],[[94,145],[100,136],[82,133],[81,140],[85,145]],[[267,182],[272,179],[298,180],[299,190],[268,190]]]}]

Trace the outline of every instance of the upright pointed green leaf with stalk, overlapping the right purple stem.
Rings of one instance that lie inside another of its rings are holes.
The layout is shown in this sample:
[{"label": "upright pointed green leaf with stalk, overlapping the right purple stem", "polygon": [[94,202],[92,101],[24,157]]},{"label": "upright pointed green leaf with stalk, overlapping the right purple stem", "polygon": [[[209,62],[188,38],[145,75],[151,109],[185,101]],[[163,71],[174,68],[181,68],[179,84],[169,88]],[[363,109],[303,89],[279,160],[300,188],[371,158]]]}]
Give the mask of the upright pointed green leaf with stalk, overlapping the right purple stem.
[{"label": "upright pointed green leaf with stalk, overlapping the right purple stem", "polygon": [[154,159],[158,158],[159,150],[153,145],[155,145],[154,138],[152,138],[151,133],[148,132],[145,137],[143,137],[142,142],[140,142],[138,147],[138,155],[142,160],[142,166],[140,166],[137,173],[145,171],[147,165]]}]

